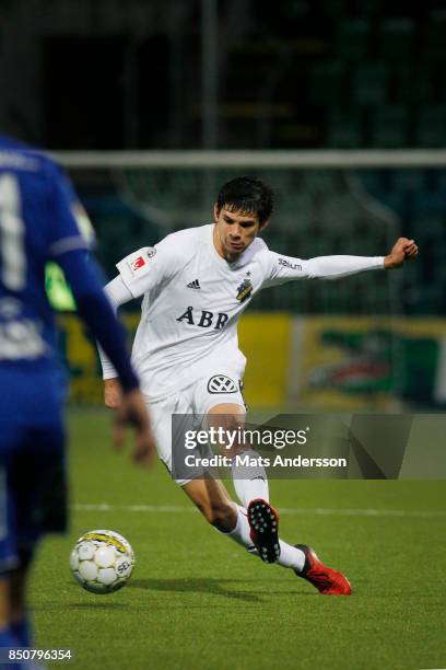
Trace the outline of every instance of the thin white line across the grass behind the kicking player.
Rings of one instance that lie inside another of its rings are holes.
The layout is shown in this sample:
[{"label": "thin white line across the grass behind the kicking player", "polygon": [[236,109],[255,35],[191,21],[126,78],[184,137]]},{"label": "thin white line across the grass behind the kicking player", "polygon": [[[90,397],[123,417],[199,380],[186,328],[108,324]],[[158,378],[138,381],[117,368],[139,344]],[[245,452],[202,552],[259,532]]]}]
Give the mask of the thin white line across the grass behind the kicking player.
[{"label": "thin white line across the grass behind the kicking player", "polygon": [[[186,507],[180,505],[108,505],[102,503],[97,505],[73,505],[74,511],[126,511],[126,512],[167,512],[167,513],[189,513],[197,512],[195,507]],[[427,519],[446,519],[446,511],[431,510],[414,510],[406,509],[342,509],[330,507],[281,507],[281,515],[318,515],[327,517],[398,517],[398,518],[427,518]]]}]

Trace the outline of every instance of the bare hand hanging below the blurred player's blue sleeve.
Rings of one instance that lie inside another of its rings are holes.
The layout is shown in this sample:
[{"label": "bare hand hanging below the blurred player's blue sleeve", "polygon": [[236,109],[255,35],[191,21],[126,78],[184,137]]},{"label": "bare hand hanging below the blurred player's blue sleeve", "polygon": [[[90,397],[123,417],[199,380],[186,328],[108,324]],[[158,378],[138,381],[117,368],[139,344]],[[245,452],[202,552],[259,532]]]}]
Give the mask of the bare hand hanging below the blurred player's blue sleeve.
[{"label": "bare hand hanging below the blurred player's blue sleeve", "polygon": [[149,463],[155,453],[155,440],[150,426],[149,414],[144,398],[139,389],[133,389],[121,395],[121,401],[115,415],[114,442],[120,448],[124,442],[125,426],[133,426],[136,447],[132,453],[136,463]]}]

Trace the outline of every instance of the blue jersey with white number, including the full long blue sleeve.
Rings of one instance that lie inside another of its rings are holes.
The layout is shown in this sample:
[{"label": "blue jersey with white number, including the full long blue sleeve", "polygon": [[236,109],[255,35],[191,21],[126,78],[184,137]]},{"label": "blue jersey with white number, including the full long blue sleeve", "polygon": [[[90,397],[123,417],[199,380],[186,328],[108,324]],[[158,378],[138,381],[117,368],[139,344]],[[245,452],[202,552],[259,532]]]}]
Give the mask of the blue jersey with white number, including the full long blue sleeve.
[{"label": "blue jersey with white number, including the full long blue sleeve", "polygon": [[114,363],[124,389],[138,386],[125,337],[73,216],[74,193],[43,154],[0,137],[0,369],[56,367],[45,264],[63,269],[78,312]]}]

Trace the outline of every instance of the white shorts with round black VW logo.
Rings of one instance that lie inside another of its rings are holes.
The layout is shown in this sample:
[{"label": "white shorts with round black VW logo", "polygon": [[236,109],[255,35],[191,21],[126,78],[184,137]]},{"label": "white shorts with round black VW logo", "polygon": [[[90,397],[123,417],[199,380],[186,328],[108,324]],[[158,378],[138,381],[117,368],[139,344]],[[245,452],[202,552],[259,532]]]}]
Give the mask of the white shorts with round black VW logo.
[{"label": "white shorts with round black VW logo", "polygon": [[[218,372],[201,377],[189,386],[176,391],[162,401],[148,401],[152,430],[155,437],[156,450],[160,459],[172,473],[172,415],[188,415],[195,423],[195,429],[199,430],[206,416],[212,407],[221,404],[240,405],[246,409],[243,396],[243,382],[232,372]],[[175,480],[179,486],[184,486],[191,480]]]}]

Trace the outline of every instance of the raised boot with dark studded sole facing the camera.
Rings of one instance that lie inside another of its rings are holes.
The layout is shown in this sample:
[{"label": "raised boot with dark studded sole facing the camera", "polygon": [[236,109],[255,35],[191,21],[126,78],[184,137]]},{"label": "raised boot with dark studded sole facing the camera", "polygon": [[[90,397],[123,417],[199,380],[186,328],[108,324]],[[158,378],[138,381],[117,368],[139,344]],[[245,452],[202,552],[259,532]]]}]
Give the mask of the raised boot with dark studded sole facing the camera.
[{"label": "raised boot with dark studded sole facing the camera", "polygon": [[275,563],[280,556],[279,515],[262,498],[255,498],[248,505],[250,539],[265,563]]}]

